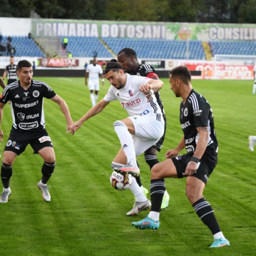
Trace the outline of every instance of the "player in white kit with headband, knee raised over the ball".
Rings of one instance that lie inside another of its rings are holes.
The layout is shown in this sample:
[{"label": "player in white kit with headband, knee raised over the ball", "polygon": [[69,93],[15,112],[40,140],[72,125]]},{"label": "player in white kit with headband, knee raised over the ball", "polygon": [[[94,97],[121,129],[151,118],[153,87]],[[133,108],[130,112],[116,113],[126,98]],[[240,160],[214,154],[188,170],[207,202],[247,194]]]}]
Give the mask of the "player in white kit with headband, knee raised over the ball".
[{"label": "player in white kit with headband, knee raised over the ball", "polygon": [[[129,117],[114,122],[114,130],[120,140],[121,149],[111,166],[119,173],[137,176],[140,170],[136,156],[154,145],[164,133],[162,112],[154,94],[162,88],[163,82],[125,74],[115,59],[106,65],[105,76],[112,84],[108,93],[72,127],[75,131],[78,130],[84,121],[100,113],[111,101],[118,99]],[[150,200],[145,197],[134,177],[129,189],[136,198],[136,214],[151,207]],[[126,215],[133,214],[127,212]]]}]

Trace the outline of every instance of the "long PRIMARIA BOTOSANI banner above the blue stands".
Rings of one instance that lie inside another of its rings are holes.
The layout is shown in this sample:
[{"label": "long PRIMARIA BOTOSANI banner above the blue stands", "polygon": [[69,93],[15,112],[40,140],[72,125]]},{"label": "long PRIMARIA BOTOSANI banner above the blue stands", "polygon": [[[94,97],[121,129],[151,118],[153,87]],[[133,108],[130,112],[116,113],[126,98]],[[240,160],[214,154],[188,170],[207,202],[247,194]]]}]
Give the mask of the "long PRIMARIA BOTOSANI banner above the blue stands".
[{"label": "long PRIMARIA BOTOSANI banner above the blue stands", "polygon": [[255,24],[122,22],[107,20],[39,19],[36,36],[150,38],[176,40],[256,40]]}]

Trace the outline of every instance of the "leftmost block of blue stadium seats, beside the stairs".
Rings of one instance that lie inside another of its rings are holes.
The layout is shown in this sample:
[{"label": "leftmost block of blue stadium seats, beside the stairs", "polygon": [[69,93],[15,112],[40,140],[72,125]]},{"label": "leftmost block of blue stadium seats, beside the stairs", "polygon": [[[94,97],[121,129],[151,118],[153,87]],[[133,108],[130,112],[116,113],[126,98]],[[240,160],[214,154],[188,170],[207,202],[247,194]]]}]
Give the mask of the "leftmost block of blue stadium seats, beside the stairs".
[{"label": "leftmost block of blue stadium seats, beside the stairs", "polygon": [[[45,54],[32,38],[28,38],[28,36],[12,36],[11,39],[11,46],[15,49],[12,55],[45,57]],[[3,36],[1,44],[4,46],[7,45],[7,36]],[[3,56],[6,54],[7,51],[2,51]]]}]

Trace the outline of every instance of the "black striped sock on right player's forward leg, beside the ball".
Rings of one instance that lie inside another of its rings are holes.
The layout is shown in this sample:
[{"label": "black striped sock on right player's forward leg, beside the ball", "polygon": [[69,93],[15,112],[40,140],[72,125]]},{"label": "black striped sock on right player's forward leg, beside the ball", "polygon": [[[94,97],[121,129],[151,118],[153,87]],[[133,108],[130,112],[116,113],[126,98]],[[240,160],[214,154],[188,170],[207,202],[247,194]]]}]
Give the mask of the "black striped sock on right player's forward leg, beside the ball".
[{"label": "black striped sock on right player's forward leg, beside the ball", "polygon": [[151,202],[152,202],[151,211],[160,212],[165,190],[166,188],[165,188],[164,179],[151,180],[151,184],[150,184],[150,196],[151,196]]}]

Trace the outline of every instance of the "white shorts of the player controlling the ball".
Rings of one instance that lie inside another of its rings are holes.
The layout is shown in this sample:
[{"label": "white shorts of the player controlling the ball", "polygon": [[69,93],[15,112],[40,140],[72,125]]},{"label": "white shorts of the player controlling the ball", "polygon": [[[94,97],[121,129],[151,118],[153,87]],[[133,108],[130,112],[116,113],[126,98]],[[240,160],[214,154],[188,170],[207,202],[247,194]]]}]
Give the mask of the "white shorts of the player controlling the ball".
[{"label": "white shorts of the player controlling the ball", "polygon": [[136,156],[155,145],[164,133],[164,120],[160,114],[128,117],[133,121],[135,135],[132,135]]}]

